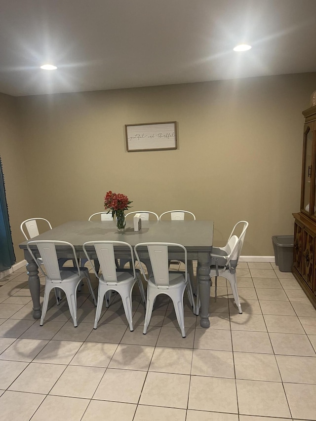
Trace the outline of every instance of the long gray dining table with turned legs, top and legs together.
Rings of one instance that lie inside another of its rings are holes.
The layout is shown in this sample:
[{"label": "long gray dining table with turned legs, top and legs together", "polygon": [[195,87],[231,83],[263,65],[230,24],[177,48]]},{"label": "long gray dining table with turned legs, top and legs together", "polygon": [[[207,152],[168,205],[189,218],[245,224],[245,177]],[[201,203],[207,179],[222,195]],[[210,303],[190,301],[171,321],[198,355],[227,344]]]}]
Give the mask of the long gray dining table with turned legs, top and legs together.
[{"label": "long gray dining table with turned legs, top and legs together", "polygon": [[[87,241],[124,241],[134,247],[138,243],[164,242],[182,244],[187,249],[188,261],[197,261],[197,285],[200,298],[200,326],[208,328],[211,280],[210,252],[213,244],[213,221],[142,221],[141,230],[135,231],[133,220],[126,222],[125,230],[118,231],[115,221],[71,221],[33,237],[34,240],[67,241],[74,245],[77,257],[86,258],[82,245]],[[27,241],[19,244],[24,251],[29,275],[29,288],[33,301],[33,317],[40,319],[40,278],[36,262],[27,249]],[[144,253],[146,248],[144,248]],[[58,258],[69,257],[69,250],[56,246]],[[36,251],[35,251],[36,253]],[[119,253],[119,250],[118,250]],[[123,253],[123,252],[122,252]],[[169,259],[183,258],[176,249],[169,251]],[[40,255],[36,255],[40,257]],[[125,257],[123,254],[118,258]],[[140,255],[140,258],[142,256]],[[146,257],[146,256],[144,256]]]}]

